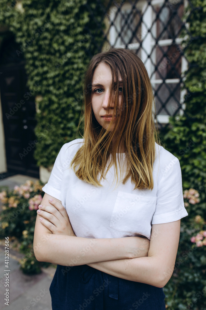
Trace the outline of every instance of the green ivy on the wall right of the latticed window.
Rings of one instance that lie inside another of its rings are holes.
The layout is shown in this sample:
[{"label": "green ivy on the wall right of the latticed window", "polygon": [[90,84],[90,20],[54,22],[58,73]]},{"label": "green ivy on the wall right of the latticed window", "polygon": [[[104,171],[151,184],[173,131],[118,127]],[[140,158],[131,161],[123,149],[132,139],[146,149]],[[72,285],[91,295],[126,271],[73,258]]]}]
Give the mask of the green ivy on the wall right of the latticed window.
[{"label": "green ivy on the wall right of the latticed window", "polygon": [[170,117],[161,136],[166,148],[180,160],[183,188],[200,193],[202,203],[191,210],[192,215],[206,219],[206,2],[191,0],[185,15],[192,37],[184,51],[189,61],[185,115]]}]

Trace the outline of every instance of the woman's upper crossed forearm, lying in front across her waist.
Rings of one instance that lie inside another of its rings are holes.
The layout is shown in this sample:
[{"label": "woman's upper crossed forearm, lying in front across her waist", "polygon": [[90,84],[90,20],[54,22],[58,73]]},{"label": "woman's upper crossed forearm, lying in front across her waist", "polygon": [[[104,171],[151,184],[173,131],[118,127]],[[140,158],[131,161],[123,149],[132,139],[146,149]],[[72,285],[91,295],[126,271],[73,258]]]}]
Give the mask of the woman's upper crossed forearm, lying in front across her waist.
[{"label": "woman's upper crossed forearm, lying in front across her waist", "polygon": [[36,259],[63,266],[132,257],[124,238],[83,238],[59,234],[46,234],[44,241],[34,238]]}]

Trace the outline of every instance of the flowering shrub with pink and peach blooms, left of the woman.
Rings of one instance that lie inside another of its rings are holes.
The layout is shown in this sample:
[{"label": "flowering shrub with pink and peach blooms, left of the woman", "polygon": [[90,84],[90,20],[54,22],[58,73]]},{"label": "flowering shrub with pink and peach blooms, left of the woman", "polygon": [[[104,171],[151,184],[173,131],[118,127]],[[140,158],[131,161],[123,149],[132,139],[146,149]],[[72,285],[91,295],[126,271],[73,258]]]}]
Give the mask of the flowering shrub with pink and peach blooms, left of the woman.
[{"label": "flowering shrub with pink and peach blooms, left of the woman", "polygon": [[19,251],[24,255],[20,260],[20,268],[24,273],[39,273],[41,266],[50,264],[37,261],[33,250],[36,210],[44,196],[43,185],[41,181],[27,180],[20,187],[15,186],[12,191],[5,188],[0,193],[3,203],[0,238],[9,237],[10,245],[12,237],[17,239]]}]

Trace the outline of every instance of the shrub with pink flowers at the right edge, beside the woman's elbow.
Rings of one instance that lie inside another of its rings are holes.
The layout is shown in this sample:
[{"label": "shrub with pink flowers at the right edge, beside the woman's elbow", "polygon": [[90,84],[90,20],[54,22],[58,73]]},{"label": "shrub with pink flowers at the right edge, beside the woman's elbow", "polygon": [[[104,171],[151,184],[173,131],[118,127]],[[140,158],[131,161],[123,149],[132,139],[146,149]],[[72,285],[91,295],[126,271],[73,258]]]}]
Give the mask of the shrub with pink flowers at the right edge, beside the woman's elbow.
[{"label": "shrub with pink flowers at the right edge, beside the woman's elbow", "polygon": [[189,199],[185,202],[188,216],[181,219],[174,272],[167,271],[172,276],[163,288],[165,301],[169,310],[205,310],[206,222],[200,215],[191,216],[193,208],[198,210],[199,193],[191,188],[184,197]]}]

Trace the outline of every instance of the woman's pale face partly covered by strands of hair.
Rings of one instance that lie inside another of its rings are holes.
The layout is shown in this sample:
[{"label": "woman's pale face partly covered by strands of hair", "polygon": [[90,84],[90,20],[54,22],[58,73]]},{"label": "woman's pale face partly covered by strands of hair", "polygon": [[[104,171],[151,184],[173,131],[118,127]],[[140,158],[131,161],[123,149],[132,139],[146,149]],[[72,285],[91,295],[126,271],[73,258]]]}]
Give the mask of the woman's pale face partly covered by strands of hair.
[{"label": "woman's pale face partly covered by strands of hair", "polygon": [[[121,77],[119,75],[119,81]],[[110,94],[110,86],[112,81],[111,69],[109,65],[105,63],[100,63],[93,74],[92,78],[92,93],[91,93],[91,105],[92,110],[94,112],[95,118],[99,125],[101,125],[104,129],[107,129],[109,124],[110,131],[114,129],[114,121],[111,121],[111,118],[105,118],[104,115],[107,113],[107,106]],[[119,104],[121,104],[121,96],[122,96],[122,84],[119,84]],[[112,101],[110,104],[109,115],[113,115],[114,113],[114,96],[112,97]],[[118,116],[117,116],[118,117]],[[115,120],[115,119],[114,119]],[[106,121],[106,122],[105,122]]]}]

